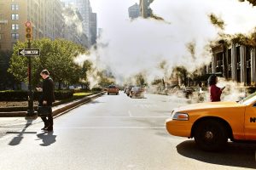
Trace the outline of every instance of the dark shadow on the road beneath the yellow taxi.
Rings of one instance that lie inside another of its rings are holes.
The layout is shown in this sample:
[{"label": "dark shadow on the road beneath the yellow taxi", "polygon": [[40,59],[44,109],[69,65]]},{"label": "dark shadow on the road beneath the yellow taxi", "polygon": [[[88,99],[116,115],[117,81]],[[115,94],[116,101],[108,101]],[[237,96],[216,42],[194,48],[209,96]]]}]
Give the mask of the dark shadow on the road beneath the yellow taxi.
[{"label": "dark shadow on the road beneath the yellow taxi", "polygon": [[177,153],[198,161],[230,167],[256,168],[256,144],[238,144],[230,142],[225,150],[207,152],[200,150],[194,140],[177,144]]}]

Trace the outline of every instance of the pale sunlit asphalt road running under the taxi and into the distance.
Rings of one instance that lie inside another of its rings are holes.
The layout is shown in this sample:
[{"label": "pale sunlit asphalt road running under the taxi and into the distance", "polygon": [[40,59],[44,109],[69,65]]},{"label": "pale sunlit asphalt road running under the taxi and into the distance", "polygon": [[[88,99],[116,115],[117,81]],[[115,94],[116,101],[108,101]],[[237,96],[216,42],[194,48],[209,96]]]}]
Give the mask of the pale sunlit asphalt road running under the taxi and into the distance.
[{"label": "pale sunlit asphalt road running under the taxi and into the distance", "polygon": [[103,95],[56,117],[53,133],[41,131],[39,119],[4,118],[9,123],[0,128],[0,169],[256,168],[255,144],[230,143],[227,150],[210,153],[199,150],[193,139],[168,134],[166,118],[185,102],[153,94],[146,99]]}]

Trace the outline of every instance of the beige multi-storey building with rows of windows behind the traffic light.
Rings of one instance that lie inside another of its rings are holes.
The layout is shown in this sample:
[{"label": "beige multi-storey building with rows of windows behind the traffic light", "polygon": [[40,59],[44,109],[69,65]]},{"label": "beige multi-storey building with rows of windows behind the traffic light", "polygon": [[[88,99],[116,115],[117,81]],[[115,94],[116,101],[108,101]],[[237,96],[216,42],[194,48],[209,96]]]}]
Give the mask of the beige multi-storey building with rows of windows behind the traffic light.
[{"label": "beige multi-storey building with rows of windows behind the traffic light", "polygon": [[0,50],[26,40],[26,21],[32,22],[33,39],[61,37],[61,10],[59,0],[0,0]]}]

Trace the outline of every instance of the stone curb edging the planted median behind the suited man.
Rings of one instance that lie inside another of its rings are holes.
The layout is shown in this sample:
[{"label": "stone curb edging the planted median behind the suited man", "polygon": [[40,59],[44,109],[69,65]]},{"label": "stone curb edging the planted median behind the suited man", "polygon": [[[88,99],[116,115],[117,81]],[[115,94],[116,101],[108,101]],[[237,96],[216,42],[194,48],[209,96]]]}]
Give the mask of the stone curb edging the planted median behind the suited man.
[{"label": "stone curb edging the planted median behind the suited man", "polygon": [[[69,102],[67,104],[62,104],[61,105],[56,105],[54,106],[53,109],[53,116],[58,116],[58,115],[62,115],[63,113],[67,112],[67,111],[71,111],[76,107],[79,107],[79,105],[83,105],[84,103],[88,103],[93,99],[96,99],[100,96],[102,96],[103,94],[105,94],[106,92],[101,92],[98,94],[92,94],[90,96],[85,96],[82,99],[76,99],[73,100],[72,102]],[[26,116],[26,111],[9,111],[9,112],[0,112],[0,117],[25,117]]]}]

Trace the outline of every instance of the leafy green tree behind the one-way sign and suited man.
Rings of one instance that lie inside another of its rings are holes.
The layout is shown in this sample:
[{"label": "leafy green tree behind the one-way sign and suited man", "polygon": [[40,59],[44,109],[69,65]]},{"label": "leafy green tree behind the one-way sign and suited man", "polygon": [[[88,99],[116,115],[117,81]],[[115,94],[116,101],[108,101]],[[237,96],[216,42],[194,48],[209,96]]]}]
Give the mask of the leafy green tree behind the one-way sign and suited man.
[{"label": "leafy green tree behind the one-way sign and suited man", "polygon": [[[18,49],[26,48],[26,42],[18,42],[14,47],[14,53],[10,59],[9,72],[20,82],[27,82],[26,57],[18,56]],[[74,62],[75,57],[84,54],[87,50],[78,44],[64,39],[51,41],[47,38],[32,42],[32,48],[40,49],[39,57],[32,57],[32,84],[35,86],[40,81],[40,71],[47,69],[55,82],[79,83],[82,67]]]}]

